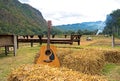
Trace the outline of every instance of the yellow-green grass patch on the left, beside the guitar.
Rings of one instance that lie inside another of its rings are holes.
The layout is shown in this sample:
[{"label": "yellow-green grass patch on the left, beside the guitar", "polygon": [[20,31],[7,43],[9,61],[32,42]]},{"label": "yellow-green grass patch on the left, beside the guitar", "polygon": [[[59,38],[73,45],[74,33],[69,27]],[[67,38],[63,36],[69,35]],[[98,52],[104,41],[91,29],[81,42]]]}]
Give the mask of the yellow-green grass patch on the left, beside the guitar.
[{"label": "yellow-green grass patch on the left, beside the guitar", "polygon": [[39,52],[40,46],[35,47],[20,47],[17,50],[17,55],[12,53],[0,54],[0,81],[6,81],[8,74],[12,68],[17,68],[23,64],[33,64],[36,53]]}]

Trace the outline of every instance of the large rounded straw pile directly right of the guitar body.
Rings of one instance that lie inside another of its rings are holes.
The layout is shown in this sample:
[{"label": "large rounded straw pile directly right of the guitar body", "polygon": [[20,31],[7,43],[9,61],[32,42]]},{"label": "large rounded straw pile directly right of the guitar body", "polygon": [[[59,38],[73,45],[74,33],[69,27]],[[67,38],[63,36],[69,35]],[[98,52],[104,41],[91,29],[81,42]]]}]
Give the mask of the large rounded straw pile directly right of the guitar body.
[{"label": "large rounded straw pile directly right of the guitar body", "polygon": [[62,67],[79,71],[85,74],[99,74],[105,64],[103,52],[94,49],[80,49],[79,51],[60,54]]}]

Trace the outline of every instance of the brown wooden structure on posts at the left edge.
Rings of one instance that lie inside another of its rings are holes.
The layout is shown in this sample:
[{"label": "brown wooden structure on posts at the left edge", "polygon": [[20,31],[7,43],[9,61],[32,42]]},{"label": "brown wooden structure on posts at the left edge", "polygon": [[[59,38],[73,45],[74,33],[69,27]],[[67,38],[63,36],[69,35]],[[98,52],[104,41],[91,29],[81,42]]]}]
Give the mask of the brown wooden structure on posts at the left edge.
[{"label": "brown wooden structure on posts at the left edge", "polygon": [[9,47],[13,47],[14,56],[17,51],[17,36],[16,35],[0,35],[0,47],[5,48],[5,54],[9,52]]}]

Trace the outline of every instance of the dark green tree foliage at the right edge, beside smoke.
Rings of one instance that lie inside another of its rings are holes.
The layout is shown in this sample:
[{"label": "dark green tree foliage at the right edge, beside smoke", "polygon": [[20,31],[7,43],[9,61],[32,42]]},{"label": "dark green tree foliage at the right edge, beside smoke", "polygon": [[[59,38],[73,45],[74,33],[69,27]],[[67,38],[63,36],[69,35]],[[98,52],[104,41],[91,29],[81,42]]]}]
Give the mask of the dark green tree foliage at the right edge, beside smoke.
[{"label": "dark green tree foliage at the right edge, beside smoke", "polygon": [[112,35],[116,37],[120,35],[120,9],[113,11],[107,16],[106,27],[103,31],[104,34]]}]

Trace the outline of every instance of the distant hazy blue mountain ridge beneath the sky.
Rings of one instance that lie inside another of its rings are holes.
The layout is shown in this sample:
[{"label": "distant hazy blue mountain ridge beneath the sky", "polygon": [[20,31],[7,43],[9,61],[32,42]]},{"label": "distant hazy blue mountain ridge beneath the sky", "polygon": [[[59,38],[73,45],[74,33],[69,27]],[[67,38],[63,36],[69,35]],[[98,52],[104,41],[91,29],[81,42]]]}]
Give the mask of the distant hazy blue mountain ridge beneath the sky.
[{"label": "distant hazy blue mountain ridge beneath the sky", "polygon": [[82,22],[82,23],[76,23],[76,24],[67,24],[67,25],[58,25],[55,26],[58,29],[68,31],[77,31],[77,30],[103,30],[104,29],[104,22],[103,21],[96,21],[96,22]]}]

